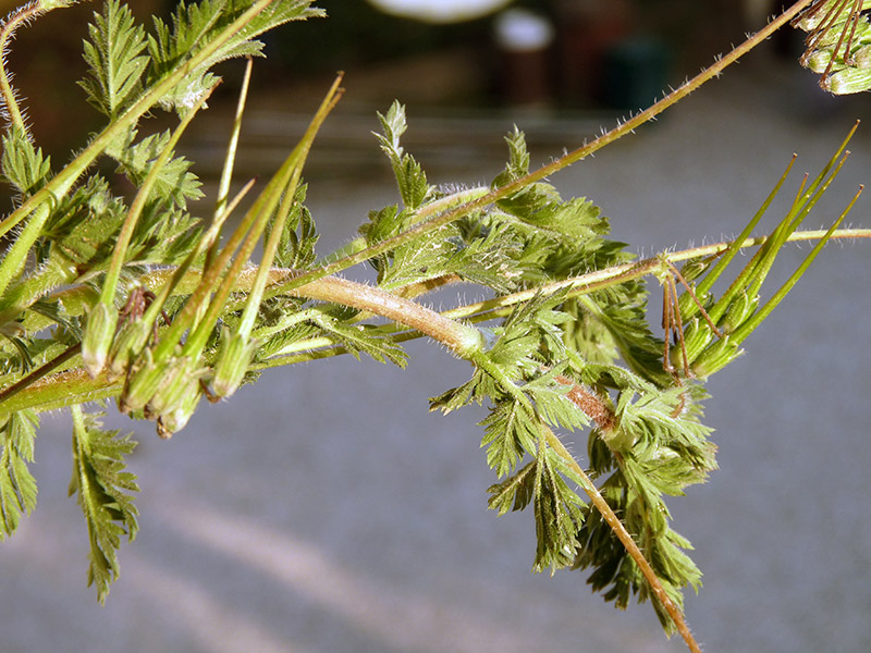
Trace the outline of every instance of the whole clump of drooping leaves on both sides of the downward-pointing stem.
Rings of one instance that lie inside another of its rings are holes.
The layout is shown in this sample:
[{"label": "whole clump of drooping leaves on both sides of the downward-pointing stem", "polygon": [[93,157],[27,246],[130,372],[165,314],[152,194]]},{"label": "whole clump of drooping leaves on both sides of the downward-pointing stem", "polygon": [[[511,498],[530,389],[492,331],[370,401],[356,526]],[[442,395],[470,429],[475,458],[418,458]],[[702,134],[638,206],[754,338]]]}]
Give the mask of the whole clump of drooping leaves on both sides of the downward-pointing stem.
[{"label": "whole clump of drooping leaves on both sides of the downward-pointing stem", "polygon": [[[565,304],[559,295],[530,301],[491,328],[487,360],[469,382],[433,398],[431,407],[447,411],[471,402],[490,404],[481,446],[503,478],[490,488],[490,507],[504,514],[532,504],[533,570],[591,568],[593,589],[625,607],[633,594],[649,599],[650,588],[584,497],[585,482],[565,449],[554,448],[547,436],[549,429],[577,432],[590,426],[590,476],[610,472],[601,493],[682,605],[680,589],[698,588],[700,572],[683,551],[689,542],[671,528],[663,497],[702,482],[715,467],[709,429],[698,421],[703,393],[696,385],[660,387],[624,367],[588,362],[572,346],[577,334],[565,337],[571,316],[552,308]],[[654,606],[671,629],[662,606]]]}]

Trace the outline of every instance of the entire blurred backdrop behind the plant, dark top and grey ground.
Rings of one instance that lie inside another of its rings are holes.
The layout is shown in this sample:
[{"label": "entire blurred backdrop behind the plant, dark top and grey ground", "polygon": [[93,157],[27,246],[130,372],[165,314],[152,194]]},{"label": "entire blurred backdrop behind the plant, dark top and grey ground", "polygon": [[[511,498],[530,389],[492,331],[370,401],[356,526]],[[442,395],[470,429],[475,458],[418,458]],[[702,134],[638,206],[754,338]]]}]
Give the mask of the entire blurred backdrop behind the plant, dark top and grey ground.
[{"label": "entire blurred backdrop behind the plant, dark top and grey ground", "polygon": [[[518,0],[478,10],[467,1],[456,22],[439,13],[446,0],[418,2],[412,14],[398,0],[318,4],[329,19],[268,36],[236,178],[268,178],[344,70],[347,91],[306,169],[328,254],[354,237],[369,210],[397,199],[371,136],[375,112],[394,99],[407,106],[404,145],[432,183],[488,182],[504,165],[512,125],[526,132],[533,164],[545,163],[695,74],[777,3]],[[132,9],[145,20],[172,5],[136,0]],[[96,9],[49,14],[22,30],[8,56],[56,170],[101,125],[75,86]],[[867,96],[820,91],[795,61],[800,47],[784,32],[552,182],[564,196],[599,204],[614,237],[639,255],[736,234],[794,151],[793,189],[856,119],[871,118]],[[222,66],[225,83],[185,135],[207,196],[243,67]],[[808,226],[830,223],[871,180],[870,146],[862,127]],[[197,208],[204,215],[209,201]],[[761,231],[783,210],[773,208]],[[867,201],[851,221],[871,225]],[[709,383],[721,469],[670,501],[704,572],[687,615],[708,651],[868,650],[868,247],[827,246],[747,341],[749,356]],[[807,251],[785,250],[770,287]],[[447,306],[453,296],[443,298]],[[657,299],[651,310],[660,310]],[[203,406],[170,442],[110,406],[108,423],[140,441],[131,466],[143,492],[142,532],[121,550],[122,578],[105,607],[85,587],[87,533],[66,498],[69,416],[44,416],[38,509],[0,545],[2,650],[685,650],[664,638],[647,605],[623,614],[591,595],[580,574],[529,574],[531,514],[498,519],[486,508],[494,478],[475,426],[484,411],[427,412],[427,398],[464,382],[468,367],[429,343],[409,349],[404,371],[333,359],[267,372],[232,401]],[[584,434],[566,439],[585,451]]]}]

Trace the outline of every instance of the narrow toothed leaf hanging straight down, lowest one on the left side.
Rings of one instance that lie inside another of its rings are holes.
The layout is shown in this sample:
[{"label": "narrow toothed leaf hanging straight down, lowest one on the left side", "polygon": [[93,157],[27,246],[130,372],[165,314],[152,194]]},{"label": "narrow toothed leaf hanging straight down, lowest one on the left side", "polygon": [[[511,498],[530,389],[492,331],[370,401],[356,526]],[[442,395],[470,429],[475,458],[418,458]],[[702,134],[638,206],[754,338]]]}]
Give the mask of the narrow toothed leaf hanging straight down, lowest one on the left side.
[{"label": "narrow toothed leaf hanging straight down, lowest one on the left side", "polygon": [[100,603],[121,572],[116,555],[121,538],[126,535],[133,541],[139,530],[138,512],[131,496],[139,486],[136,477],[125,471],[124,460],[135,446],[130,435],[119,438],[119,431],[101,430],[96,416],[74,407],[70,496],[77,495],[88,526],[88,586],[96,586]]}]

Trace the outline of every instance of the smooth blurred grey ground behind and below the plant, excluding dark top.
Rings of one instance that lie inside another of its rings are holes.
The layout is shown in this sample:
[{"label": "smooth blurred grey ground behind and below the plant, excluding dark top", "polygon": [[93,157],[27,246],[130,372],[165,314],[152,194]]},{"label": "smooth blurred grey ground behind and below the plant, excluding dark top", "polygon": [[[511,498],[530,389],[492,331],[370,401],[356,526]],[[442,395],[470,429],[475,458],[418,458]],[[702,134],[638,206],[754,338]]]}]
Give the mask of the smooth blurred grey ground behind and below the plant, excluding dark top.
[{"label": "smooth blurred grey ground behind and below the plant, excluding dark top", "polygon": [[[766,90],[774,82],[777,95]],[[806,91],[793,77],[739,67],[553,181],[594,199],[615,236],[646,254],[735,234],[793,151],[799,174],[815,173],[868,113],[866,97],[823,118]],[[475,138],[491,138],[501,156],[513,120],[524,126],[523,115],[506,116]],[[561,125],[561,145],[590,135],[586,122]],[[468,157],[464,134],[454,138]],[[559,149],[533,149],[533,161]],[[851,149],[811,226],[871,181],[871,132]],[[479,176],[457,180],[442,167],[433,181],[483,181],[500,167],[488,153],[458,161]],[[324,251],[351,237],[365,210],[394,201],[375,176],[310,180]],[[854,223],[871,225],[868,206]],[[775,276],[807,250],[785,251]],[[707,651],[868,650],[869,279],[868,244],[830,246],[747,342],[750,356],[710,383],[721,469],[670,503],[704,572],[687,613]],[[3,652],[685,650],[665,640],[649,606],[622,614],[590,595],[581,575],[530,575],[531,515],[486,509],[493,477],[475,426],[482,414],[427,412],[427,397],[468,368],[426,343],[409,348],[405,371],[335,359],[266,373],[204,406],[170,442],[151,424],[112,418],[142,441],[132,467],[144,491],[142,533],[121,552],[106,607],[85,588],[87,534],[66,498],[69,416],[46,416],[39,506],[0,546]],[[584,446],[578,436],[575,449]]]}]

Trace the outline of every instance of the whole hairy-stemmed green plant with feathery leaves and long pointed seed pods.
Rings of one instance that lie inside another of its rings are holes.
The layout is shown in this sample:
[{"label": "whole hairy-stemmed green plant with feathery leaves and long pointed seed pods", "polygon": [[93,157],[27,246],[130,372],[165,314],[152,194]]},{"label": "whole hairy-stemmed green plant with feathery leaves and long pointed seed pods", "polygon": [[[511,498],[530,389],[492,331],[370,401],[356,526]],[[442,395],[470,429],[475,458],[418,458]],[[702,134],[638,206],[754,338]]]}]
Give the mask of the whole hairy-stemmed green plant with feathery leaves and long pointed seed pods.
[{"label": "whole hairy-stemmed green plant with feathery leaves and long pointed seed pods", "polygon": [[[25,22],[72,3],[41,0],[13,12],[0,30],[3,53]],[[180,4],[170,24],[155,19],[149,32],[108,0],[94,14],[84,44],[89,72],[79,83],[106,126],[60,170],[34,141],[10,72],[0,67],[0,170],[15,195],[0,221],[0,539],[36,505],[28,465],[39,414],[69,407],[70,493],[87,521],[88,579],[103,602],[119,575],[120,542],[137,532],[139,489],[124,463],[135,442],[105,431],[85,405],[110,399],[170,438],[207,409],[204,397],[230,397],[267,368],[343,354],[402,367],[402,343],[426,336],[473,366],[469,381],[430,399],[430,408],[489,407],[480,424],[498,476],[489,507],[502,515],[531,506],[533,570],[589,569],[594,591],[618,606],[633,595],[650,600],[665,630],[698,650],[682,592],[698,589],[701,574],[664,496],[716,468],[700,421],[704,381],[743,353],[830,238],[869,235],[839,229],[855,197],[827,231],[799,229],[841,170],[849,136],[799,184],[770,235],[752,233],[792,162],[734,242],[646,260],[609,239],[592,201],[561,197],[545,177],[655,116],[790,20],[809,32],[803,61],[824,87],[868,87],[871,81],[857,82],[866,75],[863,9],[852,0],[802,0],[650,109],[541,169],[530,171],[515,130],[505,138],[505,169],[487,186],[430,184],[403,149],[405,109],[394,103],[378,116],[377,139],[397,200],[369,210],[356,238],[322,255],[302,172],[340,99],[339,79],[232,230],[228,218],[252,187],[229,196],[247,74],[209,220],[189,213],[199,183],[175,153],[219,83],[216,63],[248,58],[249,73],[259,35],[322,12],[310,0],[201,0]],[[177,126],[140,133],[142,119],[158,109],[176,113]],[[106,159],[134,193],[112,189],[94,165]],[[797,239],[815,246],[761,303],[774,259]],[[262,255],[253,261],[258,244]],[[755,255],[734,271],[743,248]],[[353,280],[359,264],[375,268],[376,284]],[[715,295],[724,274],[733,281]],[[650,280],[663,288],[662,324],[646,317]],[[477,284],[490,298],[441,312],[420,301],[455,282]],[[588,433],[585,455],[563,445],[567,431]]]}]

